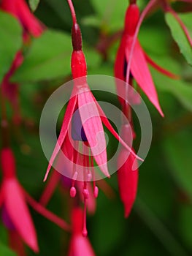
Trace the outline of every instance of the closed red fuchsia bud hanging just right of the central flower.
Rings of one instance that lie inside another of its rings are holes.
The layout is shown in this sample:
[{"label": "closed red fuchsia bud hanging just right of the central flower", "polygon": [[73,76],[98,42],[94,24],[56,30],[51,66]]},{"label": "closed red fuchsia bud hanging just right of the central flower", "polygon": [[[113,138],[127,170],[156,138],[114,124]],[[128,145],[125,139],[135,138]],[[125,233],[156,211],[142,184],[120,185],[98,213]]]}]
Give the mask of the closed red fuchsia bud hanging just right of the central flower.
[{"label": "closed red fuchsia bud hanging just right of the central flower", "polygon": [[[131,126],[129,124],[123,124],[121,136],[128,145],[131,145],[131,132]],[[122,200],[125,208],[125,217],[128,217],[130,214],[131,208],[137,195],[139,173],[138,168],[134,167],[136,164],[135,160],[136,158],[132,154],[127,156],[127,151],[125,148],[121,148],[118,156],[118,166],[120,166],[118,167],[118,185],[120,199]],[[122,162],[124,162],[123,165]]]}]

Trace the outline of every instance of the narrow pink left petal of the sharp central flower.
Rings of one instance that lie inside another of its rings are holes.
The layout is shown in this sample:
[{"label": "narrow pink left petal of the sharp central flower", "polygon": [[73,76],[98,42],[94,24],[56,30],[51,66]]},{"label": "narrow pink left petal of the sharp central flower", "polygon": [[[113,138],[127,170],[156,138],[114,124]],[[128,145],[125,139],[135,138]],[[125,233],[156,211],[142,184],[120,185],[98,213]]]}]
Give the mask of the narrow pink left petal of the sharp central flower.
[{"label": "narrow pink left petal of the sharp central flower", "polygon": [[57,143],[56,143],[55,148],[53,150],[53,154],[50,157],[50,162],[49,162],[49,165],[47,167],[47,172],[45,174],[44,181],[46,181],[47,176],[50,172],[50,168],[52,167],[53,162],[55,160],[55,157],[57,156],[58,151],[61,149],[61,146],[64,143],[66,133],[69,129],[69,124],[72,121],[72,114],[74,113],[74,108],[75,108],[76,102],[77,102],[77,95],[72,94],[72,97],[71,97],[71,99],[69,99],[69,103],[68,103],[67,108],[66,108],[66,113],[64,115],[64,121],[63,121],[63,124],[62,124],[62,127],[61,127],[61,132],[58,136],[58,140],[57,140]]}]

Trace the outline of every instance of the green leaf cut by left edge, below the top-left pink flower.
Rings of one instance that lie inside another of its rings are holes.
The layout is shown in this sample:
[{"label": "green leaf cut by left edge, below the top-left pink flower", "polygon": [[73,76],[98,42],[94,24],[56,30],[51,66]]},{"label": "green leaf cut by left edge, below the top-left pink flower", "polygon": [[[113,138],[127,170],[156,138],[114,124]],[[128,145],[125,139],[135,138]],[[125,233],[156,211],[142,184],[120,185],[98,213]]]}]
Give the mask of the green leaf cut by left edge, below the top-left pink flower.
[{"label": "green leaf cut by left edge, below the top-left pink flower", "polygon": [[15,54],[22,45],[22,29],[18,20],[0,11],[0,83],[9,71]]}]

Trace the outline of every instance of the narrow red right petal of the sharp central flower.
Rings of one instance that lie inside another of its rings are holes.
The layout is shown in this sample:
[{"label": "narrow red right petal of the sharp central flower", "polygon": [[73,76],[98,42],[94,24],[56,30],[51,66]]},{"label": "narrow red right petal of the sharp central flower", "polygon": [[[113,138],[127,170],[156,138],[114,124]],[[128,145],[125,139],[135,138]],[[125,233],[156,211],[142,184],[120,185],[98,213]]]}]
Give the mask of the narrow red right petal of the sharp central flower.
[{"label": "narrow red right petal of the sharp central flower", "polygon": [[134,153],[134,151],[120,138],[120,135],[118,135],[117,132],[115,132],[115,129],[113,129],[112,125],[110,124],[110,121],[107,119],[107,116],[105,116],[104,111],[99,106],[99,103],[96,102],[97,108],[99,109],[99,114],[101,116],[101,121],[104,123],[104,125],[109,129],[109,131],[112,133],[112,135],[132,154],[136,159],[143,162],[143,159],[141,157],[138,157],[137,154]]}]

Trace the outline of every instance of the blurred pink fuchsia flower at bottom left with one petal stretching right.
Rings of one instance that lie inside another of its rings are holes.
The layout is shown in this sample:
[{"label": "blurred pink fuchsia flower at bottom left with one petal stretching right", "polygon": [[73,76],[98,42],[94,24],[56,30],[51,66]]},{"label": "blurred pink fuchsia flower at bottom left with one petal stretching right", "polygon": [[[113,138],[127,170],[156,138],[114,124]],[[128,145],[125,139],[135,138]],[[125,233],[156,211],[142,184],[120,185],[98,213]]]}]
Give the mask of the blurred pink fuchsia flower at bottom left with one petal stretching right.
[{"label": "blurred pink fuchsia flower at bottom left with one petal stretching right", "polygon": [[43,208],[21,187],[16,178],[15,158],[10,148],[1,150],[1,168],[3,180],[0,189],[0,207],[3,209],[3,222],[9,231],[18,233],[34,252],[39,251],[36,230],[26,202],[56,225],[69,230],[69,225],[64,220]]}]

